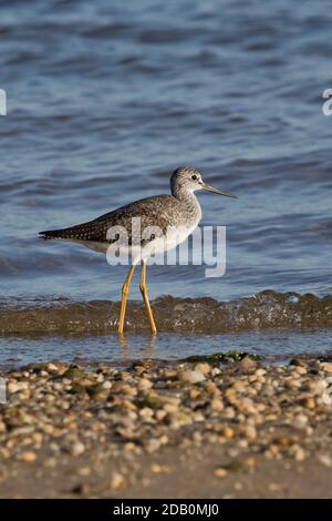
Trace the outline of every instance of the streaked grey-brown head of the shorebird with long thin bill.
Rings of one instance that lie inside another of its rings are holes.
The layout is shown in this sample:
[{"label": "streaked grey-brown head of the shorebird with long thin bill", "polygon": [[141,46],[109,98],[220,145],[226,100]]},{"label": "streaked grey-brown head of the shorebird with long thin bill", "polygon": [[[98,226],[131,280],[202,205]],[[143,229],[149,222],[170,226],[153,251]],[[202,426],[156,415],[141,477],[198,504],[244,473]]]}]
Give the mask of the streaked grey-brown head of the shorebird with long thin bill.
[{"label": "streaked grey-brown head of the shorebird with long thin bill", "polygon": [[232,195],[229,192],[214,188],[206,184],[201,178],[200,172],[191,166],[180,166],[173,172],[170,177],[170,190],[173,194],[184,190],[189,192],[204,190],[205,192],[211,192],[212,194],[237,198],[236,195]]}]

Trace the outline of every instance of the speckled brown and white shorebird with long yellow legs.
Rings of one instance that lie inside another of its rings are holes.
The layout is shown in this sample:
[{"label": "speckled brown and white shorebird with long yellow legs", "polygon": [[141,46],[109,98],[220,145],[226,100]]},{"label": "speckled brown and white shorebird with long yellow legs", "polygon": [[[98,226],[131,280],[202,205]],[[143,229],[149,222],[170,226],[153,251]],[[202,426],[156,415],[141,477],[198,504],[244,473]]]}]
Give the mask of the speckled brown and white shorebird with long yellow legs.
[{"label": "speckled brown and white shorebird with long yellow legs", "polygon": [[[201,174],[194,167],[181,166],[170,177],[170,195],[155,195],[76,226],[62,229],[40,232],[44,239],[61,239],[79,243],[96,252],[107,253],[126,251],[131,256],[131,268],[122,288],[118,334],[123,335],[126,303],[129,284],[137,264],[142,264],[139,289],[145,304],[151,331],[157,333],[146,287],[146,260],[153,254],[163,253],[176,247],[197,227],[201,218],[201,208],[195,195],[197,191],[211,192],[218,195],[235,197],[206,184]],[[134,241],[134,221],[139,218],[141,234],[138,243]],[[126,232],[127,242],[120,241],[118,229]],[[116,233],[115,233],[116,232]]]}]

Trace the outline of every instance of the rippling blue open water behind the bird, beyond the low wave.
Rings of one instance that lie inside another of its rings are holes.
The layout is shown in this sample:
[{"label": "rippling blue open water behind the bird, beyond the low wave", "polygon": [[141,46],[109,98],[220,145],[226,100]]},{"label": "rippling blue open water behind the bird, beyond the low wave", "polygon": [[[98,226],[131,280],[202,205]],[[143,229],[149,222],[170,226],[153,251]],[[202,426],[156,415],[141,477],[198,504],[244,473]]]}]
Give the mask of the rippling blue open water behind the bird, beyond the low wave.
[{"label": "rippling blue open water behind the bird, beyond the low wave", "polygon": [[153,266],[152,298],[330,295],[331,23],[323,0],[2,3],[4,319],[6,305],[117,300],[125,267],[38,232],[167,193],[181,164],[239,195],[199,196],[203,224],[227,226],[227,273]]}]

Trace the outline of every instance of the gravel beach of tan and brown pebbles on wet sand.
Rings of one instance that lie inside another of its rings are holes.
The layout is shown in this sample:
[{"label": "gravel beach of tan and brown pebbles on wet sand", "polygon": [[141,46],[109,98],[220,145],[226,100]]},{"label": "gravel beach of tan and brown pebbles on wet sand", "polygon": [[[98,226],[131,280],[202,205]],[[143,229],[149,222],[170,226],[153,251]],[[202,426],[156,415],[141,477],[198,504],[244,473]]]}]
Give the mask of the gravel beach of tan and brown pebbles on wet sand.
[{"label": "gravel beach of tan and brown pebbles on wet sand", "polygon": [[1,371],[2,498],[331,497],[332,362]]}]

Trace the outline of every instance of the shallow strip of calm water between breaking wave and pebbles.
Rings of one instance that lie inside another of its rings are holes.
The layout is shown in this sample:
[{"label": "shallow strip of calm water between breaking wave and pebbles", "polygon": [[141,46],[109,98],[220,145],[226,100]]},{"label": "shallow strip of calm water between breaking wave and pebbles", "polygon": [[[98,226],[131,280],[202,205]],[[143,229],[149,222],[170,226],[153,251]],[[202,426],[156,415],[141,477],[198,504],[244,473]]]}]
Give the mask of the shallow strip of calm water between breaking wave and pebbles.
[{"label": "shallow strip of calm water between breaking wave and pebbles", "polygon": [[17,367],[29,362],[63,360],[93,365],[103,362],[127,367],[134,360],[177,360],[190,355],[209,355],[241,350],[278,358],[300,354],[331,353],[331,329],[271,330],[225,334],[162,333],[156,338],[128,335],[71,335],[33,338],[0,337],[0,367]]}]

